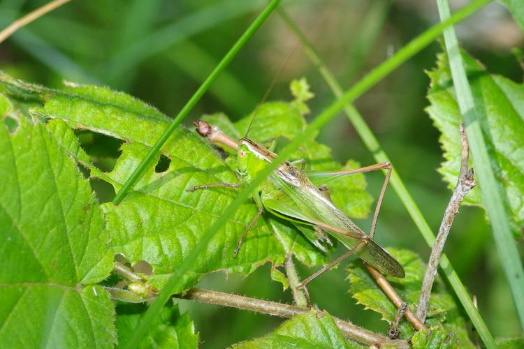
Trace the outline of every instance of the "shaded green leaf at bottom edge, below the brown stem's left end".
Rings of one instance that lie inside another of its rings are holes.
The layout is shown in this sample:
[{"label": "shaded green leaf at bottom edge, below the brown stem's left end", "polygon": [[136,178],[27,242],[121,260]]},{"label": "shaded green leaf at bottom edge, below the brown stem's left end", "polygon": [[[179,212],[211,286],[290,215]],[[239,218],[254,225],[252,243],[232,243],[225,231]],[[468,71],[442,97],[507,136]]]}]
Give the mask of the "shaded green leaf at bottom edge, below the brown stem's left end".
[{"label": "shaded green leaf at bottom edge, below the brown stem's left end", "polygon": [[[118,343],[125,345],[133,334],[138,322],[147,310],[145,304],[120,304],[117,306]],[[164,306],[150,326],[149,333],[137,348],[198,348],[198,334],[187,313],[180,314],[178,306]]]}]

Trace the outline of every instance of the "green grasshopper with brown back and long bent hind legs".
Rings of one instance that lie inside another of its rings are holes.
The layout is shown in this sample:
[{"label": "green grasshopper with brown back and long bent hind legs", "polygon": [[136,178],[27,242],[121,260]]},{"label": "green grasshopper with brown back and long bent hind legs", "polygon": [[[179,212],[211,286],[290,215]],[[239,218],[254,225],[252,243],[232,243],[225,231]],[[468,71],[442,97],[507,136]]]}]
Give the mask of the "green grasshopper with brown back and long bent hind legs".
[{"label": "green grasshopper with brown back and long bent hind legs", "polygon": [[[256,177],[259,171],[264,168],[266,163],[272,162],[277,156],[261,144],[253,142],[248,138],[242,138],[240,141],[235,142],[235,140],[219,131],[217,127],[211,126],[206,121],[195,121],[195,125],[198,133],[208,138],[211,142],[226,145],[237,151],[240,183],[203,184],[193,186],[189,188],[189,191],[213,187],[237,188],[242,186],[242,184],[249,183],[249,181]],[[296,161],[295,163],[299,162],[303,161]],[[326,232],[349,248],[349,251],[344,253],[340,258],[337,258],[337,260],[323,267],[319,272],[305,279],[301,284],[302,287],[351,254],[358,255],[361,260],[379,270],[382,274],[403,278],[405,272],[400,263],[384,250],[384,248],[373,241],[380,205],[384,198],[384,192],[391,174],[391,165],[389,163],[381,163],[357,170],[339,172],[304,172],[296,167],[296,165],[294,165],[295,163],[286,161],[282,163],[282,165],[279,165],[277,170],[270,175],[268,181],[254,193],[253,200],[257,207],[259,207],[259,212],[254,216],[238,240],[235,255],[238,253],[242,245],[242,240],[249,229],[252,228],[256,220],[260,218],[263,211],[268,211],[271,214],[291,221],[299,229],[300,225],[309,225],[317,231]],[[379,199],[377,200],[377,207],[374,211],[370,234],[366,235],[361,228],[353,223],[331,202],[329,196],[326,195],[322,188],[323,184],[326,184],[330,179],[381,169],[386,169],[388,172]],[[312,242],[315,244],[314,241]],[[316,246],[319,246],[318,243]]]}]

